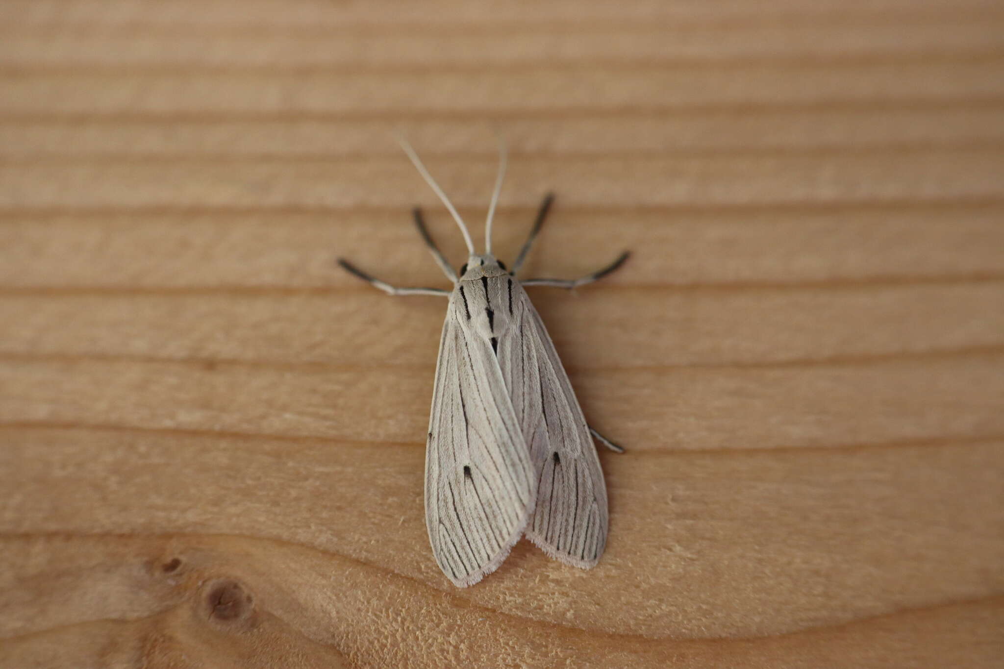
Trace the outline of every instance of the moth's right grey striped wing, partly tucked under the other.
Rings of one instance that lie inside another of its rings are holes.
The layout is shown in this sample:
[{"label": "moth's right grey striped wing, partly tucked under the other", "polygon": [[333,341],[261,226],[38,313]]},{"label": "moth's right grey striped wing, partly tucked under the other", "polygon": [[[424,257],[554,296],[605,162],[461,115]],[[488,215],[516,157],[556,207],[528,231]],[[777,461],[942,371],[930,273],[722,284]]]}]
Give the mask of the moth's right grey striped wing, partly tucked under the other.
[{"label": "moth's right grey striped wing, partly tucked under the other", "polygon": [[543,321],[514,282],[513,329],[499,363],[536,475],[526,536],[548,556],[588,569],[606,546],[606,485],[585,416]]}]

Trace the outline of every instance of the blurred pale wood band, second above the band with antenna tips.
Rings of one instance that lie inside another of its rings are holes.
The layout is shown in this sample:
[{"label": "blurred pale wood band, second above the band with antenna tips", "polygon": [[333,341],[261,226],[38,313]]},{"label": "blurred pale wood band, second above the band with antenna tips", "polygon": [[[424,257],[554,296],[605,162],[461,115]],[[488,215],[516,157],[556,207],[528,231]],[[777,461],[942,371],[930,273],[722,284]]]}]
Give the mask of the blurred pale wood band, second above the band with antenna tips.
[{"label": "blurred pale wood band, second above the band with antenna tips", "polygon": [[[972,51],[1002,46],[1004,15],[978,19],[943,19],[916,22],[911,16],[890,24],[807,22],[797,31],[789,27],[739,26],[737,30],[700,30],[654,27],[639,23],[631,27],[602,27],[597,32],[560,31],[549,26],[524,26],[509,32],[429,35],[422,30],[359,34],[324,31],[207,34],[199,27],[165,35],[160,32],[120,32],[97,28],[37,31],[21,26],[4,34],[0,26],[0,62],[39,65],[174,64],[212,65],[347,65],[362,67],[426,63],[450,65],[474,63],[529,63],[548,59],[593,62],[609,57],[617,60],[721,60],[737,56],[778,57],[804,54],[809,57],[857,57],[865,54],[896,54],[904,51]],[[477,33],[478,31],[476,31]]]}]

